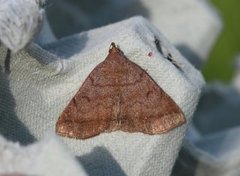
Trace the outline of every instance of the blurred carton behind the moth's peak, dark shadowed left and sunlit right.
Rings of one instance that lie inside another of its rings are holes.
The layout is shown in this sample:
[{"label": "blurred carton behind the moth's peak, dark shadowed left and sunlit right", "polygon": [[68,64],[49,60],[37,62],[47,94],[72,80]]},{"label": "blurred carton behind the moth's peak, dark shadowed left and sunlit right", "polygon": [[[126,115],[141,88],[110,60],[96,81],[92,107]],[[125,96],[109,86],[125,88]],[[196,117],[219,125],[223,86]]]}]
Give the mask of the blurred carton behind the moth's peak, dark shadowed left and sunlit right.
[{"label": "blurred carton behind the moth's peak, dark shadowed left and sunlit right", "polygon": [[208,58],[222,29],[216,10],[203,0],[55,0],[46,11],[59,37],[142,15],[197,68]]}]

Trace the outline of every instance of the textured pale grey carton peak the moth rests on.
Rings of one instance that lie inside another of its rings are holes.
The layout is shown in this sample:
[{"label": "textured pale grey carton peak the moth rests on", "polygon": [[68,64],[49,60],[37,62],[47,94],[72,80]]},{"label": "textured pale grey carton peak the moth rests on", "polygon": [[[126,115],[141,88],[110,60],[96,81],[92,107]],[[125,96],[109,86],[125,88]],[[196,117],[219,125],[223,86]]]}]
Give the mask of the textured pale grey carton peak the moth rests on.
[{"label": "textured pale grey carton peak the moth rests on", "polygon": [[[155,36],[182,71],[158,52]],[[64,107],[92,69],[106,58],[111,42],[149,73],[189,122],[204,84],[201,74],[147,20],[135,17],[43,48],[33,44],[14,55],[10,75],[0,72],[0,132],[23,143],[54,132]],[[0,47],[0,58],[5,55],[6,48]],[[183,125],[154,136],[118,131],[88,140],[61,139],[89,175],[167,176],[185,130]]]}]

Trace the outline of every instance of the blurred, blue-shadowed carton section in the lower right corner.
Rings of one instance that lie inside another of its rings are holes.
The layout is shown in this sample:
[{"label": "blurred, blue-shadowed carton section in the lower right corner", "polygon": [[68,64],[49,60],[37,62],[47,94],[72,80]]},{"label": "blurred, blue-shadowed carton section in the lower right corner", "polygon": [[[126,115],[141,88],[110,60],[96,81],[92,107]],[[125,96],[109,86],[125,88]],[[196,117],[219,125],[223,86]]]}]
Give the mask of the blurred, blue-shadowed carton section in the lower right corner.
[{"label": "blurred, blue-shadowed carton section in the lower right corner", "polygon": [[185,138],[185,153],[179,159],[185,172],[180,176],[192,168],[194,176],[239,175],[239,105],[240,93],[234,87],[206,87]]}]

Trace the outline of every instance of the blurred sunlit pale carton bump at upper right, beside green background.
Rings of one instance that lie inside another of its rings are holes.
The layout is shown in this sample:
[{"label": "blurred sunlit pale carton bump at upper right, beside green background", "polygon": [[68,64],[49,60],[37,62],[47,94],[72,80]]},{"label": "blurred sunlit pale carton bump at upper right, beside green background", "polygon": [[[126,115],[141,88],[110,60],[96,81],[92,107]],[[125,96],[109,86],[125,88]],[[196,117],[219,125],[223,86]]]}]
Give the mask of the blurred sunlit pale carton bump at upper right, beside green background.
[{"label": "blurred sunlit pale carton bump at upper right, beside green background", "polygon": [[203,0],[141,1],[149,9],[152,23],[177,48],[186,54],[193,52],[202,60],[207,59],[222,29],[222,22],[210,4]]}]

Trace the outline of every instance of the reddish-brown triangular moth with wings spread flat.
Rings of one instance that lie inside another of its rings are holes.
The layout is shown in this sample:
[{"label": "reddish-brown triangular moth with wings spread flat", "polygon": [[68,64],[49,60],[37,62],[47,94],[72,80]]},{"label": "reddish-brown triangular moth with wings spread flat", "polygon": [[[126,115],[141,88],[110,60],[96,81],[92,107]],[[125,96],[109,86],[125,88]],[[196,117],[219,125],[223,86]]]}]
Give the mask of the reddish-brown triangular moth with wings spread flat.
[{"label": "reddish-brown triangular moth with wings spread flat", "polygon": [[86,139],[121,130],[166,133],[185,123],[178,105],[141,67],[111,44],[56,123],[61,136]]}]

